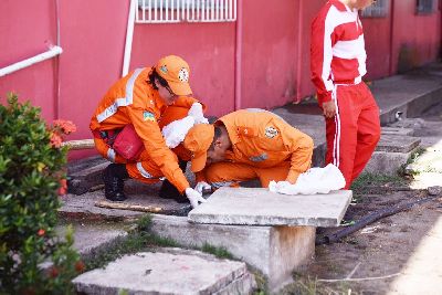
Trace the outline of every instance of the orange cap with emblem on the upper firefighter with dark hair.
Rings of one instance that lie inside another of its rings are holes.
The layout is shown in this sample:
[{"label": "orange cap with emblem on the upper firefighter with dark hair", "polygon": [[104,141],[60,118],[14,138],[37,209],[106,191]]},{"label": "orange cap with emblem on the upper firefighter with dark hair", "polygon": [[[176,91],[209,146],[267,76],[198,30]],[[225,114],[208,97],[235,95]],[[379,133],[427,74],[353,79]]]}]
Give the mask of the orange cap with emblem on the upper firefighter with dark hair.
[{"label": "orange cap with emblem on the upper firefighter with dark hair", "polygon": [[176,95],[190,95],[190,69],[185,60],[177,55],[168,55],[157,63],[157,73],[164,77]]}]

